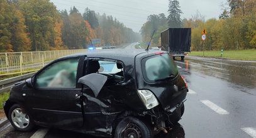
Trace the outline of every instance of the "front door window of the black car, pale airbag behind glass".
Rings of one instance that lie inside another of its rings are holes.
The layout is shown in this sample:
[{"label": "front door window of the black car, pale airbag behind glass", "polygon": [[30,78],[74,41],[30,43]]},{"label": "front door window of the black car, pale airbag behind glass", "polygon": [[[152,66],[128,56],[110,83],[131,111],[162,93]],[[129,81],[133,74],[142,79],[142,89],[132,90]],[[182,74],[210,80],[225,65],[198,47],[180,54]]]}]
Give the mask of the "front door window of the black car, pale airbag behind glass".
[{"label": "front door window of the black car, pale airbag behind glass", "polygon": [[75,88],[79,58],[53,63],[36,75],[36,88]]}]

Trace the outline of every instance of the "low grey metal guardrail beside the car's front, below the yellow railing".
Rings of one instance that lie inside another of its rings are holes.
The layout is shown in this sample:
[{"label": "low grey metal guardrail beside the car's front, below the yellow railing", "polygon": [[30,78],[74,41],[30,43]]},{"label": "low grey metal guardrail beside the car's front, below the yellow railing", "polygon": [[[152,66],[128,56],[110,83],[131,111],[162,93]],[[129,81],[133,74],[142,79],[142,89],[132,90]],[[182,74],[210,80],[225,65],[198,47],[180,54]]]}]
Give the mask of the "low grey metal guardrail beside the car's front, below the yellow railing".
[{"label": "low grey metal guardrail beside the car's front, below the yellow railing", "polygon": [[34,74],[35,72],[32,72],[32,73],[28,73],[18,77],[8,78],[6,80],[0,80],[0,94],[3,92],[8,92],[9,90],[11,90],[12,85],[22,80],[26,80],[27,78],[30,78]]}]

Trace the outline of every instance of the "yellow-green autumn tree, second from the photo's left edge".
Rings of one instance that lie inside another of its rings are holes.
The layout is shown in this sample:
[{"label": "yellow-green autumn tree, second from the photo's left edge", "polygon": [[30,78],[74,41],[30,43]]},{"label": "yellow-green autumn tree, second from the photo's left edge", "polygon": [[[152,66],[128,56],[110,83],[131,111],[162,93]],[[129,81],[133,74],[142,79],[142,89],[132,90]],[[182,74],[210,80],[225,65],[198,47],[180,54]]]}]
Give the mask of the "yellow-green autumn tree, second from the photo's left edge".
[{"label": "yellow-green autumn tree, second from the photo's left edge", "polygon": [[30,33],[32,50],[49,50],[55,45],[54,24],[58,11],[50,0],[19,1]]}]

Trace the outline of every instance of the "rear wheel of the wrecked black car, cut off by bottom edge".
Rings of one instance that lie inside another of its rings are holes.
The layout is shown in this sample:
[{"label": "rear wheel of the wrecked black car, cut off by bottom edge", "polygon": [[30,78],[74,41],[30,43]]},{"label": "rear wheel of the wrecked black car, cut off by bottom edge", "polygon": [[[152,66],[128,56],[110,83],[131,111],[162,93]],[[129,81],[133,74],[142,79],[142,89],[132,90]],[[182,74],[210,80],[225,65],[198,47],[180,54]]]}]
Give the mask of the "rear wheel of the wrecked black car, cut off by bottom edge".
[{"label": "rear wheel of the wrecked black car, cut off by bottom edge", "polygon": [[114,138],[137,137],[152,138],[153,133],[150,125],[135,117],[125,117],[116,126]]}]

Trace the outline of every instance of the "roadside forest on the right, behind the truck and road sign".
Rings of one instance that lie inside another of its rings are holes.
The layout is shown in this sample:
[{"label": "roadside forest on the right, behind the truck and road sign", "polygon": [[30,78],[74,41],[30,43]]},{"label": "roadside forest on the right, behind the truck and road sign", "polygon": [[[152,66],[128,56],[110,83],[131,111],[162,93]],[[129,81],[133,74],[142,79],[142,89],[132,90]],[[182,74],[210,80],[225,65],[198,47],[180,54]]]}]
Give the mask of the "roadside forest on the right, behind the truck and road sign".
[{"label": "roadside forest on the right, behind the truck and road sign", "polygon": [[256,1],[228,0],[228,8],[223,10],[219,19],[208,19],[199,11],[189,19],[181,19],[181,7],[178,0],[169,0],[169,15],[164,13],[148,16],[140,33],[142,41],[147,43],[155,30],[153,46],[160,46],[160,33],[167,28],[192,28],[192,50],[203,50],[201,32],[206,29],[204,50],[248,50],[256,48]]}]

